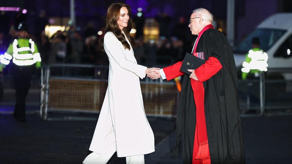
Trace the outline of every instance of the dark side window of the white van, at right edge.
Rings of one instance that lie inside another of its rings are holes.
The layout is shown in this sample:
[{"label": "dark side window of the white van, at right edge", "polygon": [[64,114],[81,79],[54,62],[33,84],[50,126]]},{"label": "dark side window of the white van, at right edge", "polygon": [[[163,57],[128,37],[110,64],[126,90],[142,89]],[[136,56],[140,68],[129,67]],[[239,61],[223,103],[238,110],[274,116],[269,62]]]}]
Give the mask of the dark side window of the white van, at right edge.
[{"label": "dark side window of the white van, at right edge", "polygon": [[290,35],[285,42],[279,47],[274,54],[275,57],[288,58],[292,55],[292,35]]}]

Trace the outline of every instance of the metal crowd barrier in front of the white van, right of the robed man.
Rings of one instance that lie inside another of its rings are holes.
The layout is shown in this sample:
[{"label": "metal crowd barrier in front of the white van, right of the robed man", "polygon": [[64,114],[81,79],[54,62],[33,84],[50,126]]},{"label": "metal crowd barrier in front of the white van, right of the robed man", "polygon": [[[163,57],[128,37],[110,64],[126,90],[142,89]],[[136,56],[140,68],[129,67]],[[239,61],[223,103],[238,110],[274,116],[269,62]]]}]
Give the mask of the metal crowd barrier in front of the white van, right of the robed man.
[{"label": "metal crowd barrier in front of the white van, right of the robed man", "polygon": [[292,69],[269,69],[256,80],[238,80],[241,110],[292,109]]}]

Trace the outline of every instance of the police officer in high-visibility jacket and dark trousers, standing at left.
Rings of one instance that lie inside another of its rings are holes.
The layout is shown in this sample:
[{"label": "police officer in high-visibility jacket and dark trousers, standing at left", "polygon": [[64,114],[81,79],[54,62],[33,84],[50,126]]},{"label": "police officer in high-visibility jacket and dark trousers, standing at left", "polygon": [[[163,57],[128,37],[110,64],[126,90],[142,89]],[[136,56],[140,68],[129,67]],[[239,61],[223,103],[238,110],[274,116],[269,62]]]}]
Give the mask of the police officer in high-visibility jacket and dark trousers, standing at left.
[{"label": "police officer in high-visibility jacket and dark trousers, standing at left", "polygon": [[34,67],[40,68],[41,58],[36,44],[29,39],[29,28],[22,22],[18,26],[18,39],[14,39],[0,56],[0,71],[12,60],[13,85],[16,90],[16,104],[13,116],[19,121],[25,121],[25,100],[30,89]]}]

